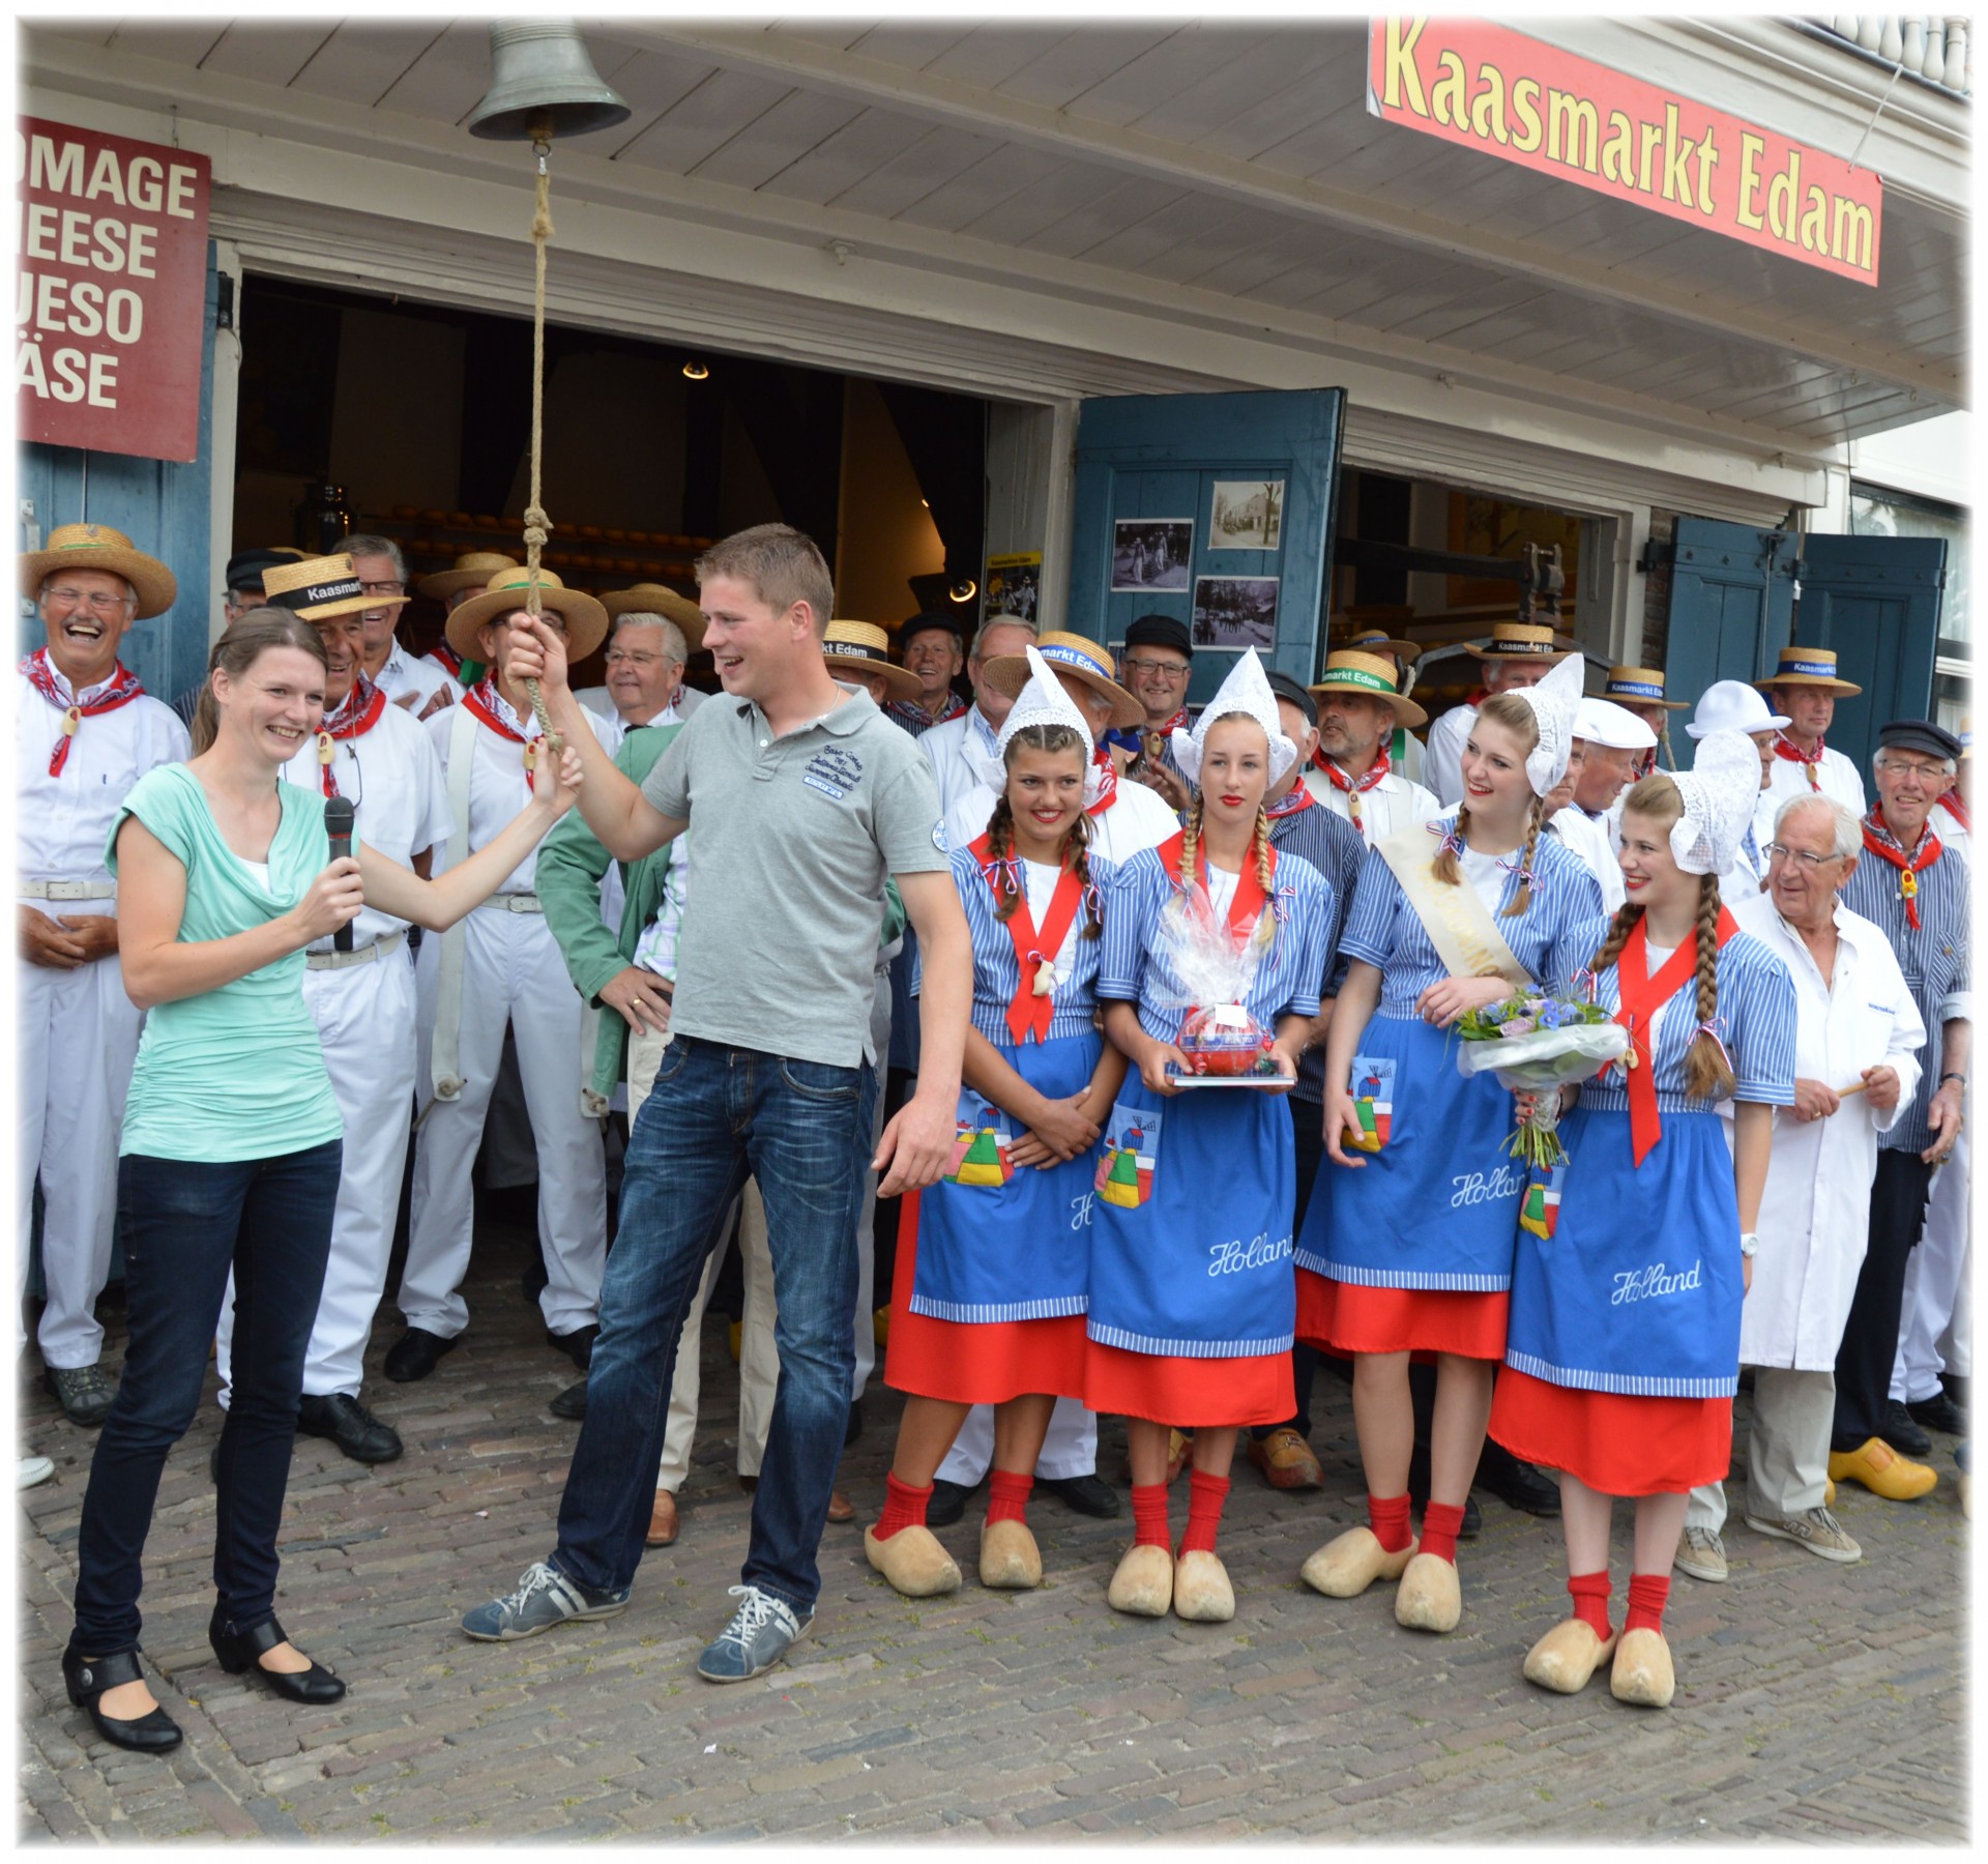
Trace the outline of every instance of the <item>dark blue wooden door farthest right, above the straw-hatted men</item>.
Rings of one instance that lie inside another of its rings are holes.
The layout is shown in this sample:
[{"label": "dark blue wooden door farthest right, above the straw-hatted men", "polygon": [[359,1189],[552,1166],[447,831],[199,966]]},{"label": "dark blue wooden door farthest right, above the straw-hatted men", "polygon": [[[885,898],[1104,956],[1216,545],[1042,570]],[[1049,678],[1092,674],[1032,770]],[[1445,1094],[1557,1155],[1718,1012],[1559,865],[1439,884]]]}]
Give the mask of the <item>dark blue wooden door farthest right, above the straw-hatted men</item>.
[{"label": "dark blue wooden door farthest right, above the straw-hatted men", "polygon": [[1891,719],[1932,717],[1944,537],[1811,537],[1801,546],[1803,646],[1835,648],[1837,672],[1863,688],[1837,699],[1829,745],[1869,773]]}]

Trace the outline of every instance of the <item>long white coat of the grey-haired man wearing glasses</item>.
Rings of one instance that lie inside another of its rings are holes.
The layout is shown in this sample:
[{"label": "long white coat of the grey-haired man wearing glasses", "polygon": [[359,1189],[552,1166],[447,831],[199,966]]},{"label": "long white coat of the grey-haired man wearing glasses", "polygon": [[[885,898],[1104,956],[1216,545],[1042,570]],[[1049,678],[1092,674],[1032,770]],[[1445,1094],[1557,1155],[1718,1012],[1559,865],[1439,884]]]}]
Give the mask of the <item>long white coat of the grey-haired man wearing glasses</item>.
[{"label": "long white coat of the grey-haired man wearing glasses", "polygon": [[[1857,1292],[1871,1228],[1877,1143],[1912,1103],[1926,1025],[1885,934],[1841,902],[1837,964],[1825,982],[1815,958],[1767,894],[1728,902],[1795,980],[1795,1073],[1843,1089],[1867,1067],[1899,1071],[1899,1107],[1877,1113],[1851,1095],[1829,1117],[1773,1121],[1767,1188],[1759,1200],[1753,1290],[1740,1310],[1740,1363],[1831,1371]],[[1732,1103],[1722,1113],[1732,1117]]]}]

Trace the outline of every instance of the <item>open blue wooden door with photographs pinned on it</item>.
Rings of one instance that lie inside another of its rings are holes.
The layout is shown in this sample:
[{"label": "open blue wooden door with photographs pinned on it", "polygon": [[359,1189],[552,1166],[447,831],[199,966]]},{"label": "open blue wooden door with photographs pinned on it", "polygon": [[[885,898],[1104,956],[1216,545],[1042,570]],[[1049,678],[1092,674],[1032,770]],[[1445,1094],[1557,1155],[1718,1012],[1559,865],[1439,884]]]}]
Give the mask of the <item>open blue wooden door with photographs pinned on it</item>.
[{"label": "open blue wooden door with photographs pinned on it", "polygon": [[1141,614],[1195,636],[1189,698],[1244,646],[1312,680],[1346,391],[1105,395],[1077,419],[1068,626],[1117,652]]}]

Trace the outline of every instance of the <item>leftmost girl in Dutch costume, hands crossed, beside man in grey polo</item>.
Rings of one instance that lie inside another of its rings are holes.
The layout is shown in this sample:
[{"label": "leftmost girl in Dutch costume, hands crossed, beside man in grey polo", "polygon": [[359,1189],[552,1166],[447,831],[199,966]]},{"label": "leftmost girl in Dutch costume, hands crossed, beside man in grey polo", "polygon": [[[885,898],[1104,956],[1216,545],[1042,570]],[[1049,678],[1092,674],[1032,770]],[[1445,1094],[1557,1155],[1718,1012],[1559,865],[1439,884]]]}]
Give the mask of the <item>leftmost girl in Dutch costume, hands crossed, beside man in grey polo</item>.
[{"label": "leftmost girl in Dutch costume, hands crossed, beside man in grey polo", "polygon": [[1125,1077],[1095,1023],[1111,866],[1085,853],[1091,735],[1034,648],[1028,662],[996,741],[994,815],[952,854],[974,944],[954,1165],[901,1220],[885,1377],[911,1397],[863,1548],[907,1598],[960,1584],[924,1510],[966,1413],[988,1403],[980,1584],[1042,1584],[1028,1494],[1056,1399],[1083,1391],[1095,1147]]}]

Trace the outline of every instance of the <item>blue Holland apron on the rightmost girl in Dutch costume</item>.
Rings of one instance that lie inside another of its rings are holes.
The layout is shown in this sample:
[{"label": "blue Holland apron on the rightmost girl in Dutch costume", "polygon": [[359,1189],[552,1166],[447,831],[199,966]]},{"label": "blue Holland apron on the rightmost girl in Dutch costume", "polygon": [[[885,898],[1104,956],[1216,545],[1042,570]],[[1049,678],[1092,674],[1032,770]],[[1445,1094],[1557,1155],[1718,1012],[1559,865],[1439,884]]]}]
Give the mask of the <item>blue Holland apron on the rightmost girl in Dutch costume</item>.
[{"label": "blue Holland apron on the rightmost girl in Dutch costume", "polygon": [[1740,1389],[1740,1202],[1716,1113],[1664,1113],[1630,1163],[1628,1115],[1580,1107],[1551,1236],[1519,1236],[1505,1363],[1551,1385],[1722,1399]]}]

